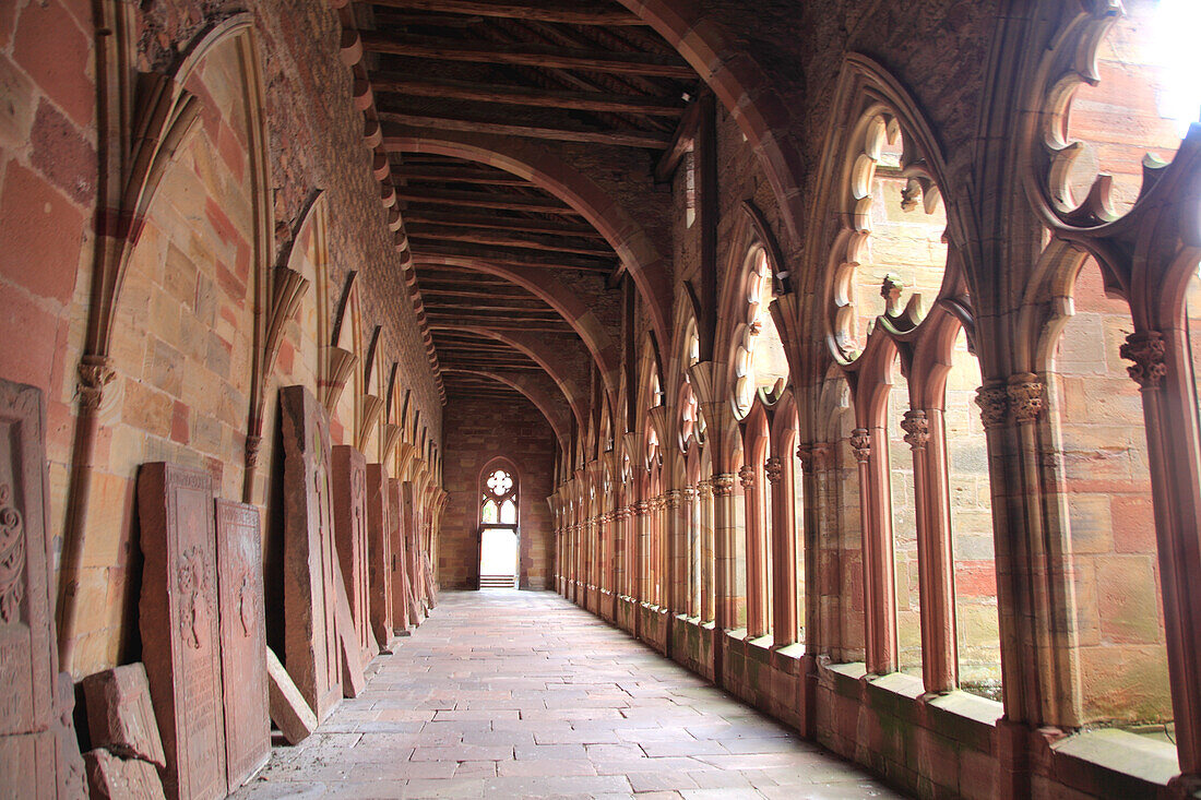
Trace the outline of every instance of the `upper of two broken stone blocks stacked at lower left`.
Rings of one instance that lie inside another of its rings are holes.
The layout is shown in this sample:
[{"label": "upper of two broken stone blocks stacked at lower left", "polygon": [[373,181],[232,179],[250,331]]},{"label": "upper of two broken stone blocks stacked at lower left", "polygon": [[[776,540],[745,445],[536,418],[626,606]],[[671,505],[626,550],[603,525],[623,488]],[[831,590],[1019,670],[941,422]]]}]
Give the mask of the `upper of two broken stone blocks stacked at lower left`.
[{"label": "upper of two broken stone blocks stacked at lower left", "polygon": [[92,747],[103,747],[119,758],[167,765],[150,703],[150,683],[141,662],[89,675],[83,679],[83,694]]}]

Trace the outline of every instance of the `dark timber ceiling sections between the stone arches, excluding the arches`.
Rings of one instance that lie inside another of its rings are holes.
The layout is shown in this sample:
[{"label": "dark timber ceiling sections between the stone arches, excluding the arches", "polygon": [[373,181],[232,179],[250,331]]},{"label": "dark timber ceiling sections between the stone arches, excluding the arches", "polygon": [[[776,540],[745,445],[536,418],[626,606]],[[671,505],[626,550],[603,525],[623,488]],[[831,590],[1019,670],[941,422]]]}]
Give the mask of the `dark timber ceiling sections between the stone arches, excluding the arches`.
[{"label": "dark timber ceiling sections between the stone arches, excluding the arches", "polygon": [[613,0],[375,0],[353,11],[355,73],[369,84],[355,94],[369,89],[374,101],[368,125],[374,115],[387,153],[376,174],[386,195],[389,184],[396,192],[431,363],[448,399],[512,399],[514,384],[530,384],[520,375],[544,365],[506,332],[546,341],[576,333],[527,288],[465,264],[533,269],[600,292],[620,291],[623,265],[580,214],[524,178],[388,143],[406,131],[486,133],[566,153],[634,148],[653,168],[679,148],[699,79]]}]

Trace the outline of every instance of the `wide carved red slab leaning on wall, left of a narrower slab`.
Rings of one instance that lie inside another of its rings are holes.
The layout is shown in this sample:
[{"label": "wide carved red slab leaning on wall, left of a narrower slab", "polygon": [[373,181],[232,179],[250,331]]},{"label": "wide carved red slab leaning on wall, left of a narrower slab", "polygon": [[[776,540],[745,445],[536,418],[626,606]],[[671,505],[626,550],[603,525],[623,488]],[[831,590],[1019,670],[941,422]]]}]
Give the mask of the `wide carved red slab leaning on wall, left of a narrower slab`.
[{"label": "wide carved red slab leaning on wall, left of a narrower slab", "polygon": [[166,462],[138,474],[142,657],[167,756],[168,798],[223,798],[225,715],[213,478]]}]

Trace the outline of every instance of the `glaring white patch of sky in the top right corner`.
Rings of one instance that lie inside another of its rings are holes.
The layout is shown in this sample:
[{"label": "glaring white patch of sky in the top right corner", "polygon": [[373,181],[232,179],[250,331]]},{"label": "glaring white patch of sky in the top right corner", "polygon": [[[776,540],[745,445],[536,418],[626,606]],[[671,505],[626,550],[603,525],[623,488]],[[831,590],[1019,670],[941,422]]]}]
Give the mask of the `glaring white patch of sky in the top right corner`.
[{"label": "glaring white patch of sky in the top right corner", "polygon": [[1176,123],[1181,136],[1201,119],[1201,1],[1163,0],[1155,14],[1155,50],[1165,70],[1159,113]]}]

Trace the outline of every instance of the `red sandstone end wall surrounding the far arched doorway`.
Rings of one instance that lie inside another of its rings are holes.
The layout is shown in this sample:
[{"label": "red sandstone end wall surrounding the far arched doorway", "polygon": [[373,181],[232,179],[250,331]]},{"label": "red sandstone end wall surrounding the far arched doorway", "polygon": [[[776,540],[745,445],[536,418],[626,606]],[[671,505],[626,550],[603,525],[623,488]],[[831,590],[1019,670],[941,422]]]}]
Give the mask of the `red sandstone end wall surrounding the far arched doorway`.
[{"label": "red sandstone end wall surrounding the far arched doorway", "polygon": [[521,587],[546,589],[554,569],[555,437],[542,413],[525,399],[452,400],[443,418],[443,486],[450,495],[442,517],[437,577],[444,589],[474,587],[479,577],[477,532],[479,471],[503,455],[520,478]]}]

